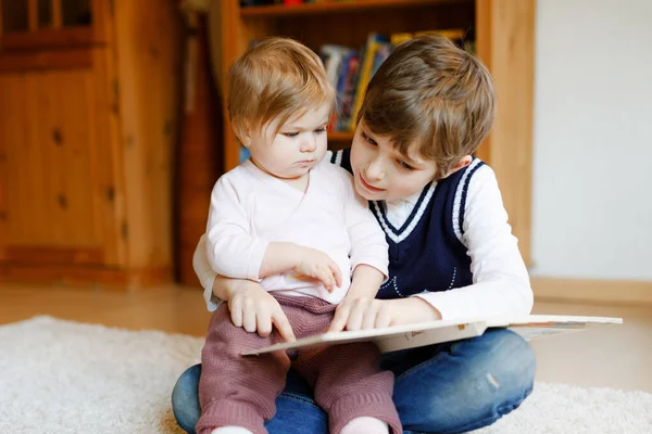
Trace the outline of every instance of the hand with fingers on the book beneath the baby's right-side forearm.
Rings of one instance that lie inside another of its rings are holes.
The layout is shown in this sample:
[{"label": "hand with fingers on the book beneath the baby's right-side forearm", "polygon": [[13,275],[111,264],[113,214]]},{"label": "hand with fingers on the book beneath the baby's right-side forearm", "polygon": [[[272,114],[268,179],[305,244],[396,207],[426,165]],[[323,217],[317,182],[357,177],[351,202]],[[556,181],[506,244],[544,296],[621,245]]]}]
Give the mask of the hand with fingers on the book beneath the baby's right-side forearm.
[{"label": "hand with fingers on the book beneath the baby's right-side forearm", "polygon": [[347,296],[335,310],[327,332],[369,330],[391,326],[392,315],[387,301]]}]

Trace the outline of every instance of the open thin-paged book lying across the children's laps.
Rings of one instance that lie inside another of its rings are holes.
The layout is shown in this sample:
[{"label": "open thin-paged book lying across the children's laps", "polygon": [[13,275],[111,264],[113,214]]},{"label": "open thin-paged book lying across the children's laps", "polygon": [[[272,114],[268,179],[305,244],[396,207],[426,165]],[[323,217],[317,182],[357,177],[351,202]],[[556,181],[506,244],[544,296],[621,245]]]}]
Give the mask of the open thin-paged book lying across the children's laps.
[{"label": "open thin-paged book lying across the children's laps", "polygon": [[527,315],[516,318],[461,318],[455,320],[396,326],[384,329],[324,333],[316,336],[300,339],[296,342],[284,342],[254,349],[243,353],[242,356],[363,341],[373,341],[378,345],[380,352],[389,353],[416,346],[475,337],[481,335],[487,329],[491,328],[509,328],[530,341],[537,337],[585,330],[589,327],[622,323],[622,318],[569,317],[559,315]]}]

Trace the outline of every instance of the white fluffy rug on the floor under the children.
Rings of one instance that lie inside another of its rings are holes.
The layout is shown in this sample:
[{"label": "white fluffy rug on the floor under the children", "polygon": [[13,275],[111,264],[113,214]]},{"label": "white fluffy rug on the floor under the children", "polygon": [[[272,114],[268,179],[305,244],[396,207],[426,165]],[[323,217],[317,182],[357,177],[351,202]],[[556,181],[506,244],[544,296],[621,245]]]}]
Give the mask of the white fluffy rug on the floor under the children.
[{"label": "white fluffy rug on the floor under the children", "polygon": [[[170,395],[203,340],[50,317],[0,327],[0,433],[181,433]],[[650,434],[652,395],[537,384],[474,434]]]}]

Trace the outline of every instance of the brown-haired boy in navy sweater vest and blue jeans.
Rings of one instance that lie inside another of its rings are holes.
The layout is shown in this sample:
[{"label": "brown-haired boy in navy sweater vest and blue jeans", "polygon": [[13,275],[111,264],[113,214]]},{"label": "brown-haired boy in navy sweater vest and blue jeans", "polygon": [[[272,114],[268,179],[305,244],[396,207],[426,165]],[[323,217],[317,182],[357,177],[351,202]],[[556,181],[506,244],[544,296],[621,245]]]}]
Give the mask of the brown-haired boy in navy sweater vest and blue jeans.
[{"label": "brown-haired boy in navy sweater vest and blue jeans", "polygon": [[[369,308],[346,319],[336,315],[333,330],[529,314],[529,278],[496,177],[472,156],[491,128],[494,104],[486,68],[444,38],[404,42],[380,66],[367,87],[351,150],[331,162],[353,173],[358,192],[384,228],[389,280]],[[203,240],[195,268],[209,308],[255,285],[216,279],[202,248]],[[285,321],[277,322],[289,335]],[[396,375],[393,401],[405,433],[462,433],[493,423],[529,395],[535,366],[528,344],[507,330],[383,358]],[[184,427],[197,420],[200,370],[187,370],[173,393]],[[327,432],[310,387],[291,370],[266,427]]]}]

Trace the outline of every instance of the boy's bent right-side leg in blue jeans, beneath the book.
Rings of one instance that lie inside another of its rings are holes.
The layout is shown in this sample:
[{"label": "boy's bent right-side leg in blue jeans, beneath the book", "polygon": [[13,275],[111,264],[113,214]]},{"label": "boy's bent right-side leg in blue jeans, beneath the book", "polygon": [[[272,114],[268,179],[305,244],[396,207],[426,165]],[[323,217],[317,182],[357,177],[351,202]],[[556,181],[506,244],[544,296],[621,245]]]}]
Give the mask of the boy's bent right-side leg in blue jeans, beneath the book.
[{"label": "boy's bent right-side leg in blue jeans, beneath the book", "polygon": [[509,330],[384,356],[396,374],[393,399],[405,433],[465,433],[521,405],[532,390],[536,360]]}]

